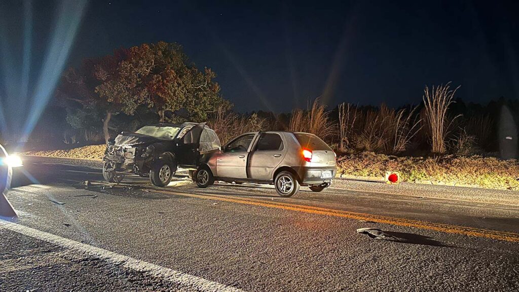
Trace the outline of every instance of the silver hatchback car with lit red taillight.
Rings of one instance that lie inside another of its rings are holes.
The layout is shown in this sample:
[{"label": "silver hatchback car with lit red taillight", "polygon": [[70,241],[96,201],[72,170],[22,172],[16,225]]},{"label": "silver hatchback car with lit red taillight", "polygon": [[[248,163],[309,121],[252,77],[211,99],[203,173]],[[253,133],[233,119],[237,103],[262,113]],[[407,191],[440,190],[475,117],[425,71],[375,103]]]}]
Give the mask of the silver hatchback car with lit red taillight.
[{"label": "silver hatchback car with lit red taillight", "polygon": [[301,185],[314,192],[329,187],[337,172],[335,158],[335,152],[313,134],[250,132],[202,154],[193,179],[200,188],[215,180],[269,183],[279,195],[289,197]]}]

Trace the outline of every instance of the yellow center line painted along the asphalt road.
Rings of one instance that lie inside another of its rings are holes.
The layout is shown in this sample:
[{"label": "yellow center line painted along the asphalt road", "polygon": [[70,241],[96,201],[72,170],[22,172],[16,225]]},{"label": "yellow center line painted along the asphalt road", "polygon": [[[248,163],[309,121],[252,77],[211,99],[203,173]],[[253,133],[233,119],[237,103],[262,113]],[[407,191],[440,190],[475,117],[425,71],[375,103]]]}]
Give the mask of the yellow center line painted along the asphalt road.
[{"label": "yellow center line painted along the asphalt road", "polygon": [[513,232],[506,231],[497,231],[497,230],[487,230],[487,229],[478,229],[471,228],[459,225],[450,225],[443,223],[433,223],[427,221],[419,221],[419,220],[411,220],[404,218],[393,218],[387,216],[379,216],[365,213],[357,213],[351,211],[343,211],[329,208],[321,208],[321,207],[312,207],[305,205],[297,205],[297,204],[288,204],[281,202],[266,202],[264,200],[257,200],[253,198],[238,198],[230,195],[216,195],[216,194],[192,194],[192,193],[183,193],[183,192],[174,192],[174,191],[162,191],[154,189],[156,192],[164,193],[164,194],[174,194],[181,195],[187,197],[195,197],[195,198],[203,198],[209,200],[217,200],[223,202],[231,202],[245,205],[253,205],[253,206],[261,206],[268,208],[278,208],[283,210],[291,210],[298,211],[310,214],[319,214],[326,216],[334,216],[334,217],[342,217],[354,220],[365,220],[372,221],[377,223],[385,223],[398,225],[403,227],[413,227],[419,229],[428,229],[433,231],[445,232],[445,233],[454,233],[475,237],[483,237],[490,238],[493,240],[501,240],[501,241],[509,241],[509,242],[519,242],[519,234]]}]

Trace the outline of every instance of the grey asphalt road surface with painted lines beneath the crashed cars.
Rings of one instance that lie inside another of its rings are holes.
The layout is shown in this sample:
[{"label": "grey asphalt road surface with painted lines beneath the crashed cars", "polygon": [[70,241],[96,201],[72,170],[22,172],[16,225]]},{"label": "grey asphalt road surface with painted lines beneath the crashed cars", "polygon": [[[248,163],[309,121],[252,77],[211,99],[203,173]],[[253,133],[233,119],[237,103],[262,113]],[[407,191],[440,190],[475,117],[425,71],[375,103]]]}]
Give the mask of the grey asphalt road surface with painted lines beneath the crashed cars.
[{"label": "grey asphalt road surface with painted lines beneath the crashed cars", "polygon": [[8,194],[19,218],[0,220],[0,291],[519,290],[518,206],[24,171]]}]

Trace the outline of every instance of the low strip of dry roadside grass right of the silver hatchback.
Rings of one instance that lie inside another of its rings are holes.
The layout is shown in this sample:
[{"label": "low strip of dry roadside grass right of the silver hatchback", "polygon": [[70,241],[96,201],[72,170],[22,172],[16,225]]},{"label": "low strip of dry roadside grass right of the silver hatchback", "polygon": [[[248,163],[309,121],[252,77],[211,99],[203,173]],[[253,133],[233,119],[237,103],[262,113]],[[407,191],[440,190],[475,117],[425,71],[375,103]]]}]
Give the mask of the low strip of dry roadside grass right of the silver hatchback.
[{"label": "low strip of dry roadside grass right of the silver hatchback", "polygon": [[399,171],[402,181],[477,185],[489,189],[519,190],[519,162],[495,157],[444,155],[435,158],[397,157],[373,152],[338,158],[339,172],[356,176],[383,177],[387,170]]}]

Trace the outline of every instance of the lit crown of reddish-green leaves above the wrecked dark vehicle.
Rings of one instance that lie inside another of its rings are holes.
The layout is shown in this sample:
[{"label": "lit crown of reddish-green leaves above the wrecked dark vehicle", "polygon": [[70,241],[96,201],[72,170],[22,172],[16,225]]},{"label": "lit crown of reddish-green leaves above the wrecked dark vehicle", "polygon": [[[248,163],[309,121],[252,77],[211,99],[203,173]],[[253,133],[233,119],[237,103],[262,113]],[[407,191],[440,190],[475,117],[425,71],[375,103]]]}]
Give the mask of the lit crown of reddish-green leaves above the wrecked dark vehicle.
[{"label": "lit crown of reddish-green leaves above the wrecked dark vehicle", "polygon": [[178,44],[159,42],[132,47],[117,71],[116,80],[97,90],[103,97],[118,95],[126,114],[145,104],[156,111],[160,122],[166,110],[182,108],[190,119],[204,120],[216,105],[225,102],[220,86],[213,81],[216,74],[207,68],[200,72]]}]

